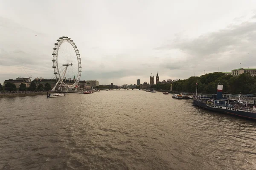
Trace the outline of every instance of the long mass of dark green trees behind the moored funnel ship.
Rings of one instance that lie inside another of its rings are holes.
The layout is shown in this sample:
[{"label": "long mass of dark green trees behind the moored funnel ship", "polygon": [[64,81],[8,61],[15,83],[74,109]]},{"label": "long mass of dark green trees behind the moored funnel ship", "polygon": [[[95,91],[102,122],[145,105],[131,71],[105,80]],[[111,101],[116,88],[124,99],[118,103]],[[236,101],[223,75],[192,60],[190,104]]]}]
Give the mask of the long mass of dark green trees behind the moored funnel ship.
[{"label": "long mass of dark green trees behind the moored funnel ship", "polygon": [[173,91],[195,93],[196,82],[198,82],[198,93],[217,93],[218,82],[223,85],[223,92],[232,94],[255,94],[256,77],[248,73],[240,74],[237,77],[215,72],[202,75],[201,77],[189,77],[172,84]]}]

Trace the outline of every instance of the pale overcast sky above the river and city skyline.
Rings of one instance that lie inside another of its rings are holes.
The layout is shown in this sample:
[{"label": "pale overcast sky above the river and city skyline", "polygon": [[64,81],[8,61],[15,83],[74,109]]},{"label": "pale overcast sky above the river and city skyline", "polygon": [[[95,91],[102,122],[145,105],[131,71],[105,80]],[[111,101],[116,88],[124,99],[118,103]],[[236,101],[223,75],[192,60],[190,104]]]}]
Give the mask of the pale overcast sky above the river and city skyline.
[{"label": "pale overcast sky above the river and city skyline", "polygon": [[0,0],[0,83],[54,77],[62,36],[101,85],[256,68],[256,0]]}]

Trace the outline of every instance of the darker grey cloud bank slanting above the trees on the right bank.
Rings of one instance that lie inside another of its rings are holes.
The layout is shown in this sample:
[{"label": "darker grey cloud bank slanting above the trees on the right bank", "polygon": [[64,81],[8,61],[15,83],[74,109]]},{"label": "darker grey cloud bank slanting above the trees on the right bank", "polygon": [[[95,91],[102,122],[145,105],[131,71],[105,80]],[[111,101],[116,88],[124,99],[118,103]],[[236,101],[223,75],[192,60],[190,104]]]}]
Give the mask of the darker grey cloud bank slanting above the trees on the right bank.
[{"label": "darker grey cloud bank slanting above the trees on the right bank", "polygon": [[[256,49],[256,22],[243,22],[215,32],[201,35],[195,39],[177,37],[172,43],[155,50],[179,50],[186,55],[183,65],[166,63],[170,69],[187,69],[201,74],[205,70],[231,71],[238,68],[240,61],[244,67],[253,66],[252,59]],[[186,67],[184,67],[186,66]]]}]

